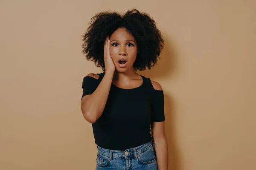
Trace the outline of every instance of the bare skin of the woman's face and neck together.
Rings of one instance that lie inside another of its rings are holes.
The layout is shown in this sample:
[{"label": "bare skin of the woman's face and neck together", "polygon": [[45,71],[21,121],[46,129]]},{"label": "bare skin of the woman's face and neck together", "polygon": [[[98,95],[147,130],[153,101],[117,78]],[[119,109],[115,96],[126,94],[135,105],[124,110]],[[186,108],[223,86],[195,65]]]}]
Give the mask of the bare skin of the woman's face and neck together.
[{"label": "bare skin of the woman's face and neck together", "polygon": [[[110,37],[110,54],[116,67],[113,84],[120,88],[136,88],[143,83],[142,77],[133,69],[138,47],[134,37],[125,28],[118,28]],[[125,68],[120,68],[118,59],[127,59]]]}]

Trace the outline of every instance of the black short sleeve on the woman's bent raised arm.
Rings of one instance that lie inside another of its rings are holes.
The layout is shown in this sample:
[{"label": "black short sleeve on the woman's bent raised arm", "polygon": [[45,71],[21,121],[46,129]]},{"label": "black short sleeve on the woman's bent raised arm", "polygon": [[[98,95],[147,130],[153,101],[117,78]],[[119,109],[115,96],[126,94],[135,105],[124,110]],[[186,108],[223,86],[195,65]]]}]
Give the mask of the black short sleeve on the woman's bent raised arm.
[{"label": "black short sleeve on the woman's bent raised arm", "polygon": [[81,100],[85,95],[93,94],[93,92],[96,90],[98,85],[99,85],[99,82],[94,77],[90,77],[90,76],[84,77],[83,83],[82,83],[83,95],[81,97]]}]

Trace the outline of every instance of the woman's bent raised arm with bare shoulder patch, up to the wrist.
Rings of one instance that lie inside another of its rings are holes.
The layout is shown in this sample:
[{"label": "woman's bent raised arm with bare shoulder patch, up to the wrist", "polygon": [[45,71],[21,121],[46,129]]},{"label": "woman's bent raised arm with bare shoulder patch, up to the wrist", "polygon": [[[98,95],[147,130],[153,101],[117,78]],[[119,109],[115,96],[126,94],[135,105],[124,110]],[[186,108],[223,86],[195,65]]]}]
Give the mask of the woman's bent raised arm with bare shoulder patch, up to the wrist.
[{"label": "woman's bent raised arm with bare shoulder patch, up to the wrist", "polygon": [[[87,76],[96,78],[96,74],[88,74]],[[113,72],[106,72],[93,94],[88,94],[82,98],[81,111],[84,119],[88,122],[94,123],[102,115],[108,99],[112,79]]]}]

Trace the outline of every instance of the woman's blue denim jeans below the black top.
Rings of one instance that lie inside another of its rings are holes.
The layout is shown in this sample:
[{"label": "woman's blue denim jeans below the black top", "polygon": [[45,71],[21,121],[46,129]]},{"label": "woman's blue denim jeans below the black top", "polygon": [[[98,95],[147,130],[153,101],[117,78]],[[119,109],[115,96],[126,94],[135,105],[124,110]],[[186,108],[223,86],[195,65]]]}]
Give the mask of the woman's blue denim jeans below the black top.
[{"label": "woman's blue denim jeans below the black top", "polygon": [[96,170],[157,170],[154,141],[138,147],[108,150],[97,146]]}]

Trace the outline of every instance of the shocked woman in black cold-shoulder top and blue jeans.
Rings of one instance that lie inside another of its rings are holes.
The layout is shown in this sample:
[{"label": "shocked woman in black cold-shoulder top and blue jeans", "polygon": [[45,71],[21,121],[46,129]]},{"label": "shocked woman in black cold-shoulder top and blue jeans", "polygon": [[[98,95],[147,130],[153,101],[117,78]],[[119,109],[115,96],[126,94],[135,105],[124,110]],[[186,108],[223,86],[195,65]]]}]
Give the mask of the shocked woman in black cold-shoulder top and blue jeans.
[{"label": "shocked woman in black cold-shoulder top and blue jeans", "polygon": [[81,111],[98,148],[96,170],[167,170],[163,89],[136,73],[154,66],[163,48],[155,21],[136,9],[105,11],[83,37],[87,59],[103,70],[82,83]]}]

